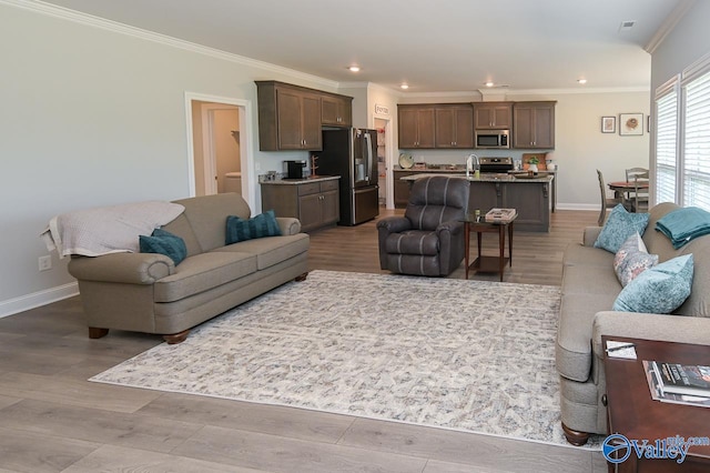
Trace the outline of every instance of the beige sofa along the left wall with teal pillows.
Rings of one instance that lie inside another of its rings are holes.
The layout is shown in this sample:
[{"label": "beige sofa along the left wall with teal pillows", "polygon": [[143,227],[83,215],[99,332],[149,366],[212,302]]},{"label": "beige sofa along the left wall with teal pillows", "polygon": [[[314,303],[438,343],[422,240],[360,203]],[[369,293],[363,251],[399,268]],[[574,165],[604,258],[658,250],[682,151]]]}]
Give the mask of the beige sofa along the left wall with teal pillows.
[{"label": "beige sofa along the left wall with teal pillows", "polygon": [[187,258],[175,265],[162,254],[72,256],[89,336],[109,329],[183,341],[191,328],[294,279],[305,279],[310,239],[296,219],[276,219],[281,236],[225,245],[226,218],[248,219],[235,193],[183,199],[180,217],[163,229],[181,236]]}]

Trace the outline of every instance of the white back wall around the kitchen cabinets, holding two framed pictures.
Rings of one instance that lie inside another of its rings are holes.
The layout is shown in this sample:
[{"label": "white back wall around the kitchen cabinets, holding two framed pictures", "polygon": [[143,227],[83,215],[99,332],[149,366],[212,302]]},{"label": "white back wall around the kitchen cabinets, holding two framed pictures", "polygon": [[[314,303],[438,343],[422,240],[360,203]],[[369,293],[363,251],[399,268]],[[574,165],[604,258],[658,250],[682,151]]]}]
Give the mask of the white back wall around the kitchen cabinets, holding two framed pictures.
[{"label": "white back wall around the kitchen cabinets, holding two framed pictures", "polygon": [[[625,169],[648,168],[649,133],[646,117],[649,113],[648,91],[619,91],[587,93],[541,92],[508,93],[505,100],[535,101],[555,100],[555,150],[551,157],[559,167],[559,209],[599,210],[600,197],[597,172],[607,181],[621,180]],[[470,102],[477,97],[416,97],[407,103]],[[403,101],[404,102],[404,101]],[[618,132],[619,113],[643,113],[643,134],[621,137]],[[617,132],[601,133],[601,117],[617,117]],[[410,153],[415,161],[464,164],[470,152],[485,157],[519,159],[529,150],[402,150]],[[609,194],[611,197],[611,194]]]}]

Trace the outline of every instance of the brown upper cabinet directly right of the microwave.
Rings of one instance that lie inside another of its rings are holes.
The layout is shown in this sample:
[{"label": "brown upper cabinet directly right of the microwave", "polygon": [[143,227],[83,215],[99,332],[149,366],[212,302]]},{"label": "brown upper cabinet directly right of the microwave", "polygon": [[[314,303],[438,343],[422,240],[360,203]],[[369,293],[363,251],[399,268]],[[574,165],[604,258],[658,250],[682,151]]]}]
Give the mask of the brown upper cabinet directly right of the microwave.
[{"label": "brown upper cabinet directly right of the microwave", "polygon": [[513,148],[555,148],[555,104],[516,102],[513,107]]}]

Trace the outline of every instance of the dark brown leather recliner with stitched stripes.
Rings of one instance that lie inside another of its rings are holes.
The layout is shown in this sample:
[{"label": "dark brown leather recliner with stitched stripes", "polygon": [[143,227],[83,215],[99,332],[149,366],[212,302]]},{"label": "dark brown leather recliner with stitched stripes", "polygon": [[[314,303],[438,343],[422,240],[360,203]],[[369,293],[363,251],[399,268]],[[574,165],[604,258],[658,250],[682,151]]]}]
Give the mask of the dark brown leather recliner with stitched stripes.
[{"label": "dark brown leather recliner with stitched stripes", "polygon": [[379,266],[400,274],[446,276],[464,259],[468,181],[436,175],[414,182],[404,217],[377,222]]}]

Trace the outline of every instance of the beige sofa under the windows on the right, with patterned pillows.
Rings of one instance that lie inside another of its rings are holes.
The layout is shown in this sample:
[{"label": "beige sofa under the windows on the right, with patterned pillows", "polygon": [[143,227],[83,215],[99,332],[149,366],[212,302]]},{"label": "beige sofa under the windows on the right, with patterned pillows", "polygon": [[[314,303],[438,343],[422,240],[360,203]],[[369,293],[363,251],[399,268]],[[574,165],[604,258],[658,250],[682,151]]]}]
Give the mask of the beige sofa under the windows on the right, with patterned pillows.
[{"label": "beige sofa under the windows on the right, with patterned pillows", "polygon": [[611,311],[622,288],[612,268],[615,255],[594,248],[600,227],[587,228],[582,244],[565,250],[556,356],[562,429],[572,444],[586,443],[590,433],[607,433],[601,335],[710,344],[710,235],[674,250],[655,229],[676,209],[672,203],[652,208],[642,235],[659,262],[693,254],[692,292],[672,315]]}]

